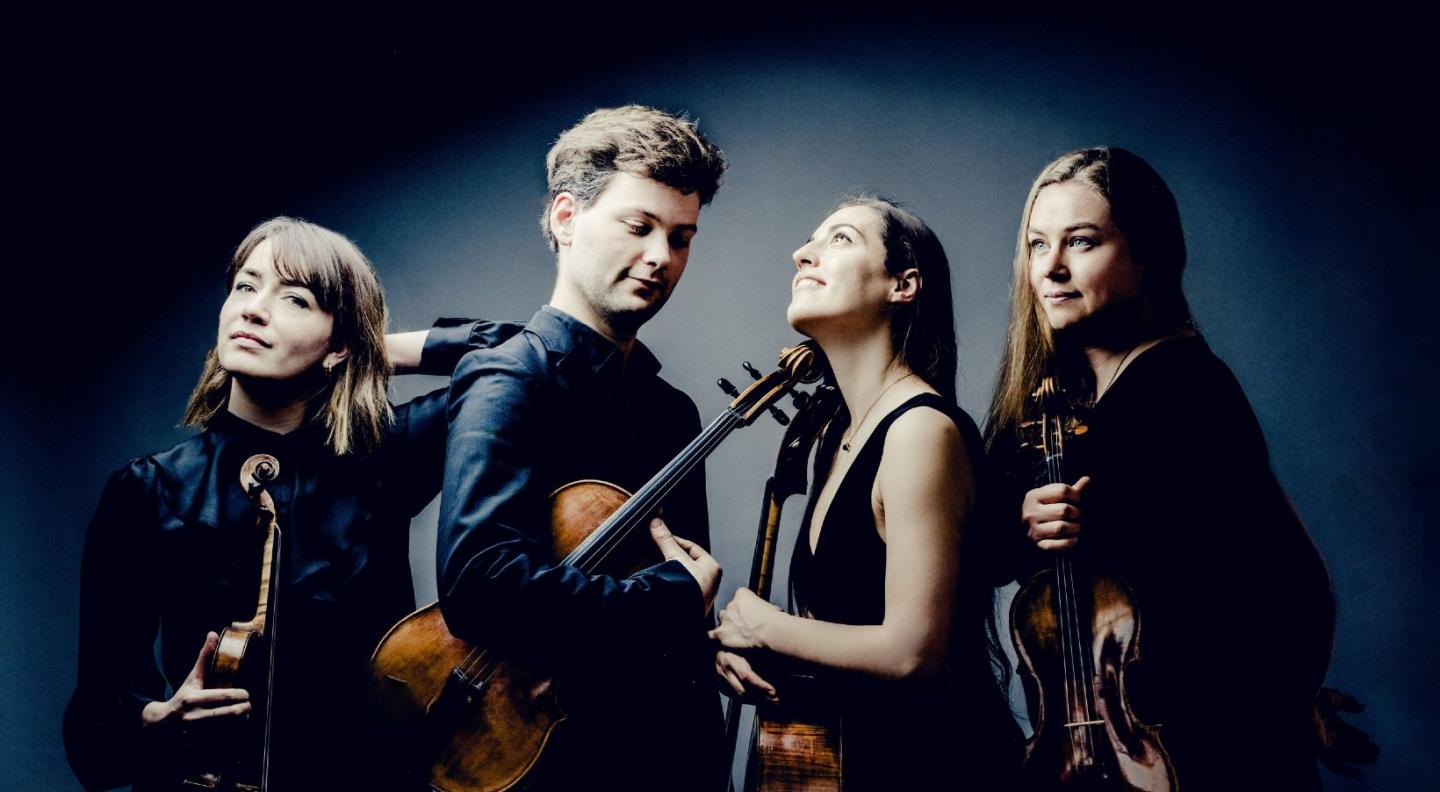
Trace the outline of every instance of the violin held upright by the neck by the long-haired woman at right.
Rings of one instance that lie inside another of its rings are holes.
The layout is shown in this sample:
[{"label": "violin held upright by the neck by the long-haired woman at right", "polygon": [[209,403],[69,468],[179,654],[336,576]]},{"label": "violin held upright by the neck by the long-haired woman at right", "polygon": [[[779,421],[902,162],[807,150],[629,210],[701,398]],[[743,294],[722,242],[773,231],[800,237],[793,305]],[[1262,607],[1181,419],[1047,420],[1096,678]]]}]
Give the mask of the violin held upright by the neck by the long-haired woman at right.
[{"label": "violin held upright by the neck by the long-haired woman at right", "polygon": [[[1068,482],[1066,439],[1086,426],[1051,377],[1032,399],[1038,418],[1020,431],[1021,445],[1041,452],[1037,487]],[[1126,668],[1142,657],[1140,611],[1125,580],[1057,552],[1054,569],[1015,595],[1009,626],[1035,729],[1021,789],[1179,788],[1161,727],[1140,723],[1125,697]]]}]

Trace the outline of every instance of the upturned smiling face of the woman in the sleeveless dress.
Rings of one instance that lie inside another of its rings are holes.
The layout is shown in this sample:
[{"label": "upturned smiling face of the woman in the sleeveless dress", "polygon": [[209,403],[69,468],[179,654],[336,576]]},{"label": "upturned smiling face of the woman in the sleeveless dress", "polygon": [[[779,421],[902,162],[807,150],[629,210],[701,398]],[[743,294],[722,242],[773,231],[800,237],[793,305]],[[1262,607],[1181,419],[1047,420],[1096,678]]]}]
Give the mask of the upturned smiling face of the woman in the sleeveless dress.
[{"label": "upturned smiling face of the woman in the sleeveless dress", "polygon": [[886,271],[880,215],[868,206],[847,206],[821,222],[791,255],[791,327],[815,337],[828,325],[887,324],[896,300],[896,278]]}]

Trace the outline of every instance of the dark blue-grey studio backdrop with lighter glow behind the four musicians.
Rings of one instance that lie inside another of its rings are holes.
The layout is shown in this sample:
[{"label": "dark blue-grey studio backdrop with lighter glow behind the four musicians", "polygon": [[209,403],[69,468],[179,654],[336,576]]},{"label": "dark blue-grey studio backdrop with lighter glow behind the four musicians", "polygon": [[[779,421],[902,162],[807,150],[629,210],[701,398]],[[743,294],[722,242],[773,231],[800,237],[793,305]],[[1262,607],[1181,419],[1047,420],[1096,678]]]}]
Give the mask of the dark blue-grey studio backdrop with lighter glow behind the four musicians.
[{"label": "dark blue-grey studio backdrop with lighter glow behind the four musicians", "polygon": [[[0,786],[76,788],[59,716],[84,527],[111,469],[186,436],[174,423],[248,228],[288,213],[356,239],[396,328],[527,318],[552,282],[536,226],[544,153],[586,111],[628,101],[688,111],[732,161],[684,282],[641,336],[707,416],[726,403],[717,376],[743,377],[740,360],[763,367],[796,338],[789,252],[857,189],[909,202],[945,242],[960,402],[982,416],[1030,180],[1079,145],[1145,156],[1181,204],[1201,328],[1331,564],[1331,683],[1368,703],[1358,723],[1384,746],[1365,780],[1329,786],[1426,778],[1440,737],[1426,674],[1440,658],[1420,516],[1434,472],[1434,202],[1408,112],[1423,26],[677,13],[253,14],[177,35],[111,19],[40,26],[6,55],[24,210],[0,383],[14,438],[0,462]],[[396,397],[439,384],[400,380]],[[762,422],[708,465],[723,599],[746,577],[778,438]],[[1204,497],[1225,494],[1176,482],[1176,503]],[[433,523],[432,505],[412,541],[423,599]],[[1244,618],[1284,616],[1259,603]]]}]

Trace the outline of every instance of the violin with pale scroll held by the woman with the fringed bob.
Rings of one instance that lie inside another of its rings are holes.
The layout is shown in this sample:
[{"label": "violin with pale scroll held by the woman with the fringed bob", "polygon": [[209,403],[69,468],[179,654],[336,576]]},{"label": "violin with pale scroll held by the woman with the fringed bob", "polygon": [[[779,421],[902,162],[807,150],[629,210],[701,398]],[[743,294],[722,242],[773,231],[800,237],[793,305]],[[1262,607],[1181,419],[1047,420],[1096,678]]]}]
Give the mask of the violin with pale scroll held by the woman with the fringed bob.
[{"label": "violin with pale scroll held by the woman with the fringed bob", "polygon": [[[225,732],[222,742],[207,743],[199,772],[184,780],[187,789],[265,792],[269,788],[269,734],[275,688],[275,626],[278,624],[281,533],[275,523],[275,500],[265,482],[279,475],[279,461],[256,454],[240,465],[240,487],[255,504],[255,521],[265,536],[261,554],[261,592],[255,615],[233,622],[220,632],[220,645],[204,670],[207,688],[239,687],[251,693],[253,717]],[[262,696],[264,694],[264,696]]]}]

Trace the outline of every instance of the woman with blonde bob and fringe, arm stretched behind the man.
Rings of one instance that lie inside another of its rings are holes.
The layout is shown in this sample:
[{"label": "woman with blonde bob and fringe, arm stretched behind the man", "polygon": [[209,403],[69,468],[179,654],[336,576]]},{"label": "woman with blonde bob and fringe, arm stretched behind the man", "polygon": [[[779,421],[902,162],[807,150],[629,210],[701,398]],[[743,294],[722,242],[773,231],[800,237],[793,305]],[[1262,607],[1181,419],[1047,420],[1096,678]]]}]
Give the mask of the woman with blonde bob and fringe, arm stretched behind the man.
[{"label": "woman with blonde bob and fringe, arm stretched behind the man", "polygon": [[[239,480],[255,454],[279,461],[266,491],[284,534],[269,615],[284,624],[272,634],[271,789],[366,788],[389,773],[370,750],[369,657],[415,606],[409,520],[441,485],[445,390],[386,400],[384,294],[338,233],[266,220],[235,251],[225,284],[216,346],[184,416],[203,431],[111,475],[86,534],[79,683],[65,716],[86,789],[173,789],[217,769],[196,766],[196,740],[245,743],[251,691],[204,677],[216,631],[255,613],[264,534]],[[510,331],[452,325],[392,347],[448,374]]]}]

